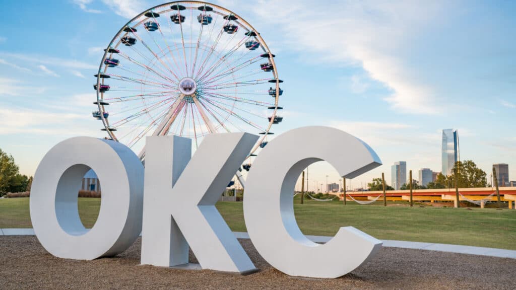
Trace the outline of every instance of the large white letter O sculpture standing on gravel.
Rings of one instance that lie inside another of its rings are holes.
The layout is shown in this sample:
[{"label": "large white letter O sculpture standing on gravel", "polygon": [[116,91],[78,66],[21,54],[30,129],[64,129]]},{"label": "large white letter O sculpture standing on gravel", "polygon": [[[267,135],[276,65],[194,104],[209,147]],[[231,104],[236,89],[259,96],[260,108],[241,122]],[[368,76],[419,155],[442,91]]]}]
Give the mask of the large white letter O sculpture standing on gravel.
[{"label": "large white letter O sculpture standing on gravel", "polygon": [[[102,182],[99,217],[84,228],[77,196],[84,174]],[[30,219],[51,254],[76,260],[116,255],[141,232],[143,166],[138,156],[111,140],[75,137],[58,143],[36,170],[30,190]]]}]

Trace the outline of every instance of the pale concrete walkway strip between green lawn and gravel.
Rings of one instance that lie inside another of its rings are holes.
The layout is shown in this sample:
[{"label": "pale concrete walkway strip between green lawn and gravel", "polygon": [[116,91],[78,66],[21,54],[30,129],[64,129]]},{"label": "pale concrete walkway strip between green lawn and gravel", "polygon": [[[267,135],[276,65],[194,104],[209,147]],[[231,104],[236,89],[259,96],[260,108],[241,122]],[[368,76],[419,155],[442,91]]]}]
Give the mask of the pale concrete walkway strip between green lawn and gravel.
[{"label": "pale concrete walkway strip between green lawn and gravel", "polygon": [[[233,232],[237,238],[249,238],[246,232]],[[30,236],[34,235],[33,229],[0,229],[0,236]],[[316,243],[327,243],[332,237],[327,236],[311,236],[307,237]],[[450,244],[422,243],[419,241],[404,240],[382,240],[383,247],[441,251],[449,253],[471,254],[481,256],[493,256],[516,259],[516,250],[505,250],[496,248],[461,246]]]}]

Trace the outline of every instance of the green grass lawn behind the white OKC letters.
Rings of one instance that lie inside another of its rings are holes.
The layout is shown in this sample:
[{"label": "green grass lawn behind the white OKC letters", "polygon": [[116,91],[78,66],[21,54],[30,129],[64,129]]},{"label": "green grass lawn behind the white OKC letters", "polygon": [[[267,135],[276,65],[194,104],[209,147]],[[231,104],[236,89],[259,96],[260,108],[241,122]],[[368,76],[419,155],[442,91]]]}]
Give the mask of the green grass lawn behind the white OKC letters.
[{"label": "green grass lawn behind the white OKC letters", "polygon": [[[426,241],[516,250],[516,210],[450,208],[404,204],[381,206],[348,202],[305,201],[296,197],[294,211],[304,234],[334,235],[352,225],[379,239]],[[79,215],[92,227],[100,199],[79,198]],[[241,202],[219,202],[217,208],[233,231],[245,232]],[[30,228],[28,198],[0,200],[0,228]]]}]

